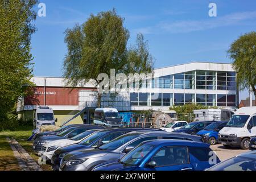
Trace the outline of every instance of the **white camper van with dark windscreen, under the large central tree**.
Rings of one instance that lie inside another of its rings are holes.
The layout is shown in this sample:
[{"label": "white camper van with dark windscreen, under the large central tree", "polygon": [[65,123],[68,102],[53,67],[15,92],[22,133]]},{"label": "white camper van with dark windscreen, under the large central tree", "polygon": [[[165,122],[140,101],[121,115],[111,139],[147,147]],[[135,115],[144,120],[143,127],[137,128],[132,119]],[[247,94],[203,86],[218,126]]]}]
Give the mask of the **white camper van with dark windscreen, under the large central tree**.
[{"label": "white camper van with dark windscreen, under the large central tree", "polygon": [[93,123],[107,127],[121,127],[122,119],[119,117],[117,109],[98,108],[94,111]]}]

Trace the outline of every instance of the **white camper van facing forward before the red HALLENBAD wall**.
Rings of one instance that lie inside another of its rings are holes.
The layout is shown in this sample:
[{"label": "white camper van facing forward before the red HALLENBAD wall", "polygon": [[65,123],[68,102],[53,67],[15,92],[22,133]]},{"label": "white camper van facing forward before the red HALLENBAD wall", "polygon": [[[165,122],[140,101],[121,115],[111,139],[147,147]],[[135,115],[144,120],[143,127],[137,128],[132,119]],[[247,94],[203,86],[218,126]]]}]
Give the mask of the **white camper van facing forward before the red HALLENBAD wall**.
[{"label": "white camper van facing forward before the red HALLENBAD wall", "polygon": [[53,110],[48,106],[36,106],[33,112],[34,129],[39,129],[43,125],[55,125],[57,119],[54,118]]}]

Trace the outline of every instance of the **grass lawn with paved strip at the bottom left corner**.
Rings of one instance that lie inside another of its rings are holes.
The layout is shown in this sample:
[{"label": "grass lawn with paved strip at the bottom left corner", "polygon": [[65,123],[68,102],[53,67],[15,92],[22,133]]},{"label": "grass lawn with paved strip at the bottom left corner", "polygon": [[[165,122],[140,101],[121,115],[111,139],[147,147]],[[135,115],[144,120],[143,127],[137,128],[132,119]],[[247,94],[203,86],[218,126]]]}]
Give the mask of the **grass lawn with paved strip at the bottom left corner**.
[{"label": "grass lawn with paved strip at the bottom left corner", "polygon": [[[18,161],[13,155],[13,150],[6,140],[6,137],[15,138],[19,144],[31,155],[31,157],[37,162],[38,156],[36,156],[32,149],[32,142],[28,142],[27,139],[32,134],[32,127],[22,126],[16,131],[1,131],[0,132],[0,171],[3,170],[20,170]],[[43,170],[51,170],[51,166],[40,166]]]}]

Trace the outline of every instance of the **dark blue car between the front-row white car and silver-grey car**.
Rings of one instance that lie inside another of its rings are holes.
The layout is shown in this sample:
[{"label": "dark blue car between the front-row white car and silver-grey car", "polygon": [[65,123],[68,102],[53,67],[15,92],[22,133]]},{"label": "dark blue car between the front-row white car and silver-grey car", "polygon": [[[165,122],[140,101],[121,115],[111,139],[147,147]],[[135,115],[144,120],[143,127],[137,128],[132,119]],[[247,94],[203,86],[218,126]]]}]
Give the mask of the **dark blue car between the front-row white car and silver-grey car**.
[{"label": "dark blue car between the front-row white car and silver-grey car", "polygon": [[102,131],[97,131],[92,135],[88,136],[80,143],[72,144],[70,146],[62,147],[57,149],[52,156],[52,169],[59,170],[60,161],[64,155],[68,154],[68,152],[72,152],[75,150],[85,150],[86,148],[97,148],[102,144],[108,143],[109,141],[123,135],[129,133],[131,131],[162,131],[160,129],[146,129],[146,128],[121,128],[121,129],[106,129]]}]

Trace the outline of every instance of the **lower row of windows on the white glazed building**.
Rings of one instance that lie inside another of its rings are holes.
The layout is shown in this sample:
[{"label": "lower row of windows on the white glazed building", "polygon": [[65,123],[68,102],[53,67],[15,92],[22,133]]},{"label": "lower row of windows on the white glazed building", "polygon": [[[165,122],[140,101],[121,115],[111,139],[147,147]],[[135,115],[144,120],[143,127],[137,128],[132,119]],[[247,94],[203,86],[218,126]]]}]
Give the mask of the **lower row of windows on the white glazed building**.
[{"label": "lower row of windows on the white glazed building", "polygon": [[208,106],[236,106],[235,94],[130,93],[131,106],[172,106],[197,103]]}]

